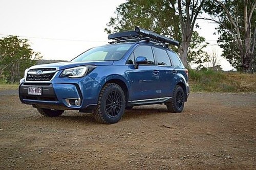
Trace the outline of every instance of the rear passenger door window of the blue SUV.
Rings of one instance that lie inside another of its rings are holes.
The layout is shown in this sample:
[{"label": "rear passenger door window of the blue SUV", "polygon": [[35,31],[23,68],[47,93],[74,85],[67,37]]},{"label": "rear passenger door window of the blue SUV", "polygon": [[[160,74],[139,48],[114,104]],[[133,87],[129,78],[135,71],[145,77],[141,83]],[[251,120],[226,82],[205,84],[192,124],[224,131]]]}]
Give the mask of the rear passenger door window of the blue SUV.
[{"label": "rear passenger door window of the blue SUV", "polygon": [[158,65],[170,66],[170,59],[165,50],[157,47],[153,47]]}]

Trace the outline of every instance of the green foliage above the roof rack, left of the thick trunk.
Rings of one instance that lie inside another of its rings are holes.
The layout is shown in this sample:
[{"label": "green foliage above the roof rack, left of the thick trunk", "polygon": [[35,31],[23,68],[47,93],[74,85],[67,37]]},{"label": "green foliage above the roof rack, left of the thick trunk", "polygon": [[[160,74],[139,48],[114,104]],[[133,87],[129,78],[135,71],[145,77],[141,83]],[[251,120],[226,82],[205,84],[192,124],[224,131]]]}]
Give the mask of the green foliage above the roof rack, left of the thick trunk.
[{"label": "green foliage above the roof rack, left of the thick trunk", "polygon": [[[168,0],[130,0],[116,8],[116,17],[111,17],[105,31],[110,33],[134,30],[135,26],[161,33],[162,35],[181,40],[175,34],[176,21],[179,20],[172,7],[174,1]],[[169,17],[173,16],[173,17]],[[178,26],[178,25],[177,25]]]}]

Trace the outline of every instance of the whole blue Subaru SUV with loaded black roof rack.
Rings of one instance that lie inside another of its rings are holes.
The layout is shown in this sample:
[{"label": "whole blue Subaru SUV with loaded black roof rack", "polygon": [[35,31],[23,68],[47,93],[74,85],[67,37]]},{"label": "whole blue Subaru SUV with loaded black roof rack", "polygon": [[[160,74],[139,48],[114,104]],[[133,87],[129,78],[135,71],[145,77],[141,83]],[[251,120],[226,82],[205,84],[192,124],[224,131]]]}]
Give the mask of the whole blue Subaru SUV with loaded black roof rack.
[{"label": "whole blue Subaru SUV with loaded black roof rack", "polygon": [[109,39],[70,62],[26,69],[20,101],[45,116],[93,112],[105,124],[117,123],[125,109],[138,105],[165,104],[169,112],[182,112],[189,95],[188,70],[168,48],[179,43],[138,27]]}]

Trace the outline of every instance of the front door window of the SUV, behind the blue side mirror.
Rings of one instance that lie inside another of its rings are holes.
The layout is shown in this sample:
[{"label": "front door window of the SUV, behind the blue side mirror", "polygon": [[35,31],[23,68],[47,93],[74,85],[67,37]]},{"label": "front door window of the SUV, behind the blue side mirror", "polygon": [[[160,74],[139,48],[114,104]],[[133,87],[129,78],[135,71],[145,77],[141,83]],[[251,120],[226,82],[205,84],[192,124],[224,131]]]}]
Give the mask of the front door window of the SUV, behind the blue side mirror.
[{"label": "front door window of the SUV, behind the blue side mirror", "polygon": [[155,64],[151,46],[140,45],[134,50],[134,57],[146,57],[148,64]]}]

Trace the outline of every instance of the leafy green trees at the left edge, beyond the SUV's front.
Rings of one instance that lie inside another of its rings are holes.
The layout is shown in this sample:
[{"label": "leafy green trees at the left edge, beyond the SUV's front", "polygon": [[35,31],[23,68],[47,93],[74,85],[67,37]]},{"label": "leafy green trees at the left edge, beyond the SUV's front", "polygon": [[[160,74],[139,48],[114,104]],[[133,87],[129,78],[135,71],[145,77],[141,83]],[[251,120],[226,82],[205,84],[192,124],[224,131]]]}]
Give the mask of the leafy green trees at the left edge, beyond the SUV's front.
[{"label": "leafy green trees at the left edge, beyond the SUV's front", "polygon": [[9,36],[0,39],[0,82],[18,82],[24,70],[36,64],[39,53],[30,48],[27,39]]}]

